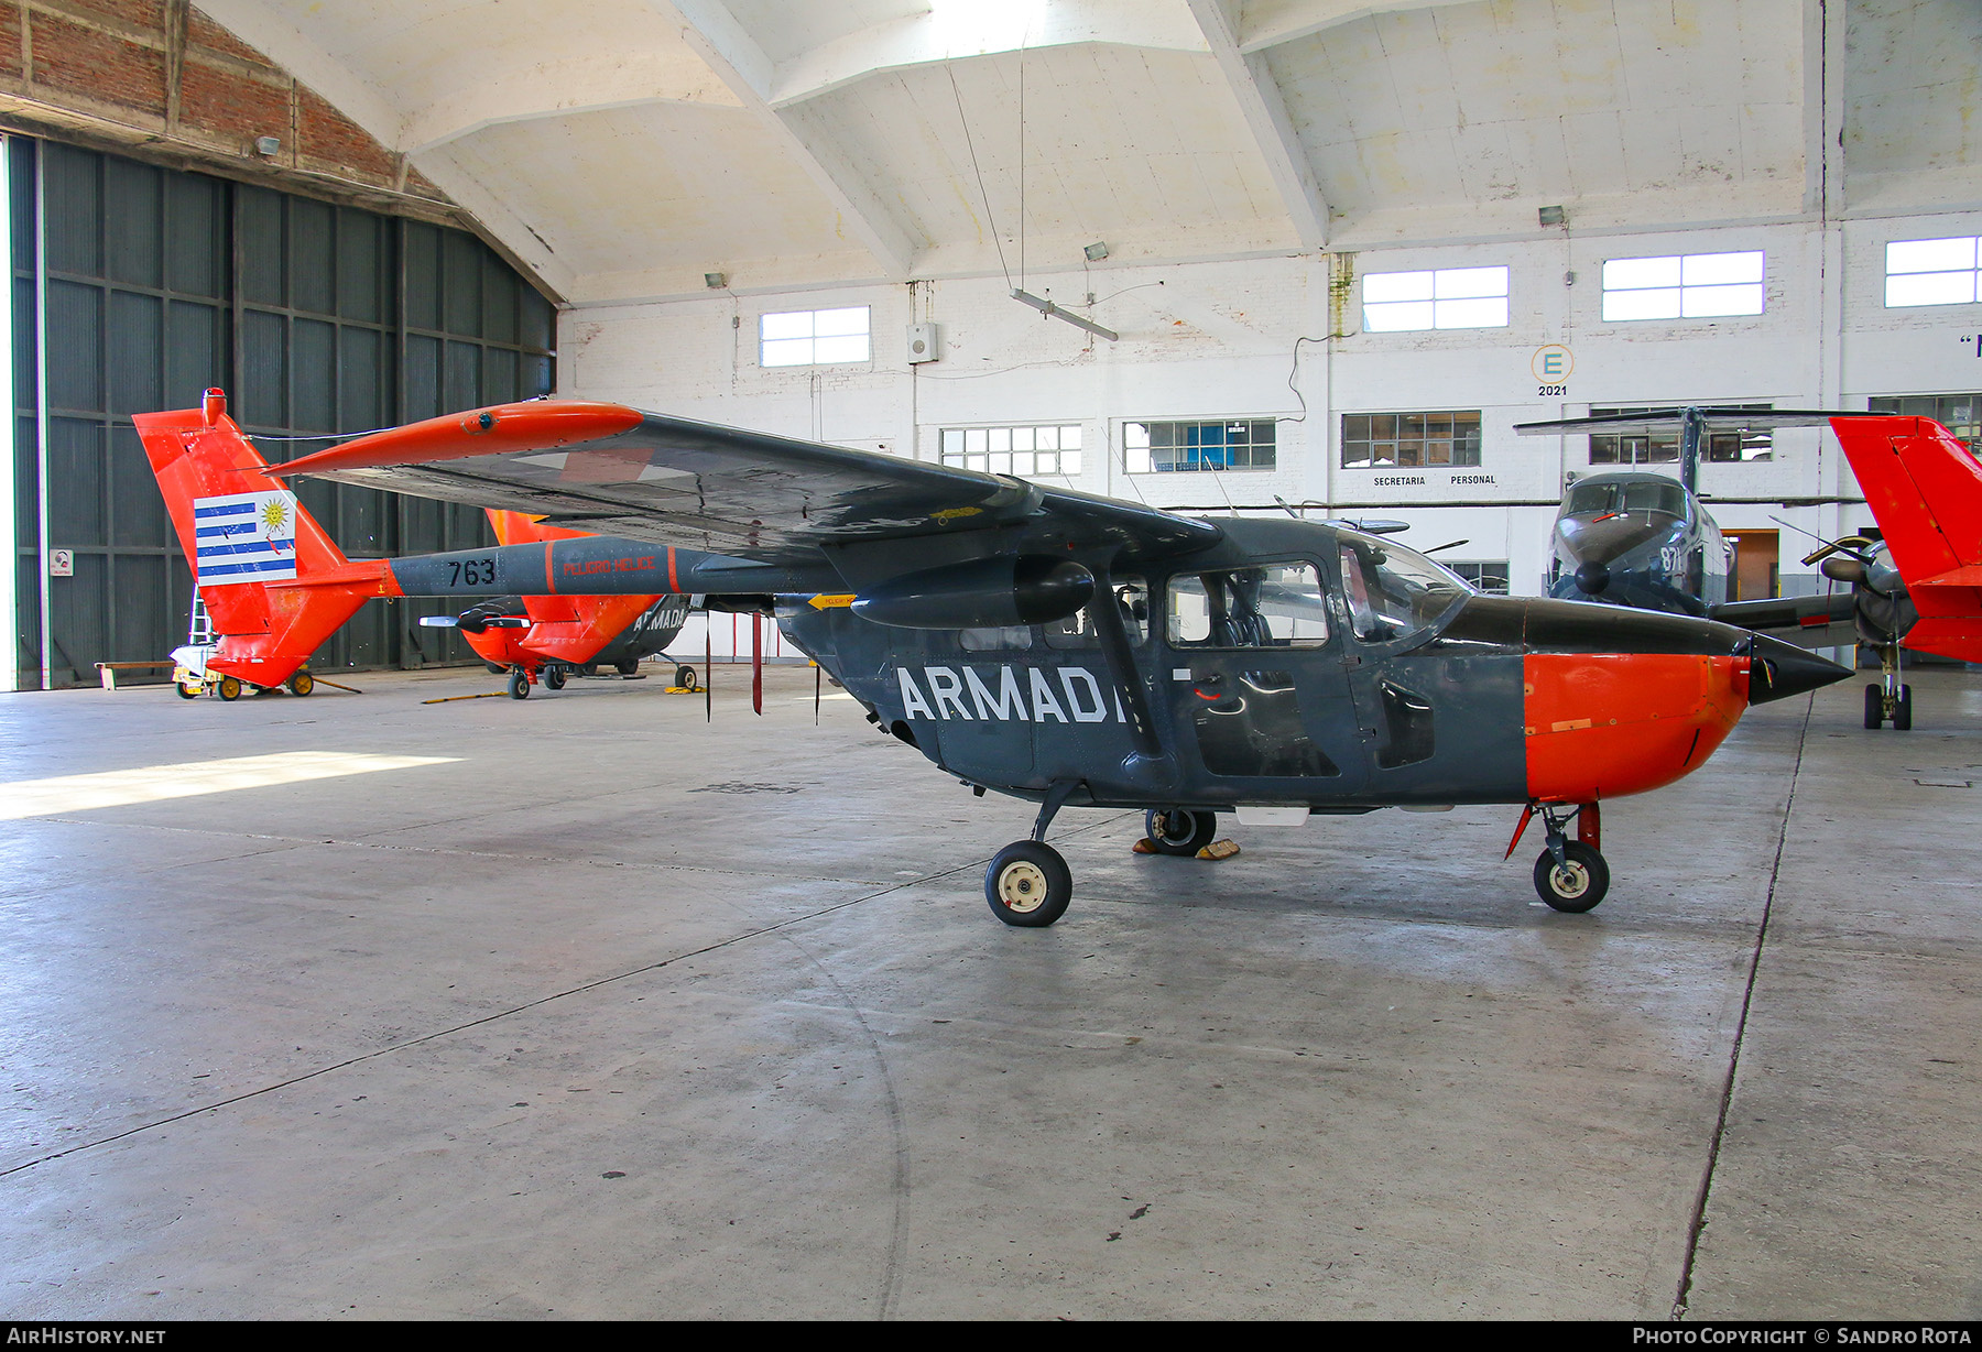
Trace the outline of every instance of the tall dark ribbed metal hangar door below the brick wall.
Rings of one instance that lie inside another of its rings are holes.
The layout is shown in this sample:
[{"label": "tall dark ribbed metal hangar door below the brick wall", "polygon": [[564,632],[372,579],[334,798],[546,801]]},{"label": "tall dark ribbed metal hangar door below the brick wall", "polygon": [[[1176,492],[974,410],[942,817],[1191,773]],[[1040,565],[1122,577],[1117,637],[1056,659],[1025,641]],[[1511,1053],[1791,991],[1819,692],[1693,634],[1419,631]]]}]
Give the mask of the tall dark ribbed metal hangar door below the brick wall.
[{"label": "tall dark ribbed metal hangar door below the brick wall", "polygon": [[[228,391],[270,460],[553,389],[553,307],[482,240],[206,174],[10,139],[18,688],[184,642],[192,577],[131,414]],[[44,478],[46,474],[46,478]],[[46,486],[46,494],[44,494]],[[301,484],[351,557],[466,549],[480,511]],[[67,551],[50,577],[44,551]],[[373,601],[313,660],[474,654]]]}]

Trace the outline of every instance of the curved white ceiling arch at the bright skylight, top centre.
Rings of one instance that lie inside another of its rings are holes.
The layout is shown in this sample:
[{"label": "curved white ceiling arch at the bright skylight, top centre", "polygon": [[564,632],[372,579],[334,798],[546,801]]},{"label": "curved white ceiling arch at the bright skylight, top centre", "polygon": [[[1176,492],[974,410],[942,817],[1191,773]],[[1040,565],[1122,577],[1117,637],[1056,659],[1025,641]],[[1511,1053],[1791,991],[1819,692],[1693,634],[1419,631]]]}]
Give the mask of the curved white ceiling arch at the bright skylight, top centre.
[{"label": "curved white ceiling arch at the bright skylight, top centre", "polygon": [[1043,10],[1025,4],[949,8],[874,24],[785,61],[773,77],[771,105],[783,109],[817,99],[880,71],[1088,42],[1205,50],[1203,34],[1183,10],[1148,0],[1058,0]]}]

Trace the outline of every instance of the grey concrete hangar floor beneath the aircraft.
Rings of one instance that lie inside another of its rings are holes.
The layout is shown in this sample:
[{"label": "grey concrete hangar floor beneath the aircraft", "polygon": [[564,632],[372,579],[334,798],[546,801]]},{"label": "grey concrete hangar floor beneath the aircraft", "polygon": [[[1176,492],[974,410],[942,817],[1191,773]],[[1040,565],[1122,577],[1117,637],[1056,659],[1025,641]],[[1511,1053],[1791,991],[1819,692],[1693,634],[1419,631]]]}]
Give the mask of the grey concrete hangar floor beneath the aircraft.
[{"label": "grey concrete hangar floor beneath the aircraft", "polygon": [[0,698],[8,1316],[1982,1314],[1974,676],[1750,712],[1588,916],[1508,809],[1068,811],[1043,932],[809,670],[355,684]]}]

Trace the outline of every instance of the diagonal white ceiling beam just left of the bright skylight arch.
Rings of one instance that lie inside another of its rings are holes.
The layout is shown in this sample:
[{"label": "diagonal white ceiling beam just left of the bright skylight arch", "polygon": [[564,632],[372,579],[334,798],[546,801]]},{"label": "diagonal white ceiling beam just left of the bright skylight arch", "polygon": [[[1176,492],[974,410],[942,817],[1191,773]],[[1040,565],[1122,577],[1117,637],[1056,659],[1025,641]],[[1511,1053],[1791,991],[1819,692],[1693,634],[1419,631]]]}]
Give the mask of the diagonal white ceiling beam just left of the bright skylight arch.
[{"label": "diagonal white ceiling beam just left of the bright skylight arch", "polygon": [[799,163],[805,174],[819,184],[819,190],[840,214],[846,232],[874,256],[882,274],[890,280],[906,280],[916,260],[916,242],[882,206],[874,186],[834,145],[832,135],[823,131],[805,109],[771,107],[777,67],[721,0],[654,0],[654,4],[672,10],[688,44]]}]

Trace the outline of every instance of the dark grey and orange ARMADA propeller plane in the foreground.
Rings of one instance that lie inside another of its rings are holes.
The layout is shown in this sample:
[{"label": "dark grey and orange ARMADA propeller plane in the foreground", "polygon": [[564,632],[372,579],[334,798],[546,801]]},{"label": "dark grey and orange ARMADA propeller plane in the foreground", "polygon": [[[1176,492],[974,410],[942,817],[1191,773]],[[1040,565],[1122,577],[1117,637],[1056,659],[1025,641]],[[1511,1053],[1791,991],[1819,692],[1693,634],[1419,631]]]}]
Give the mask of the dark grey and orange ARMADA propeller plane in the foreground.
[{"label": "dark grey and orange ARMADA propeller plane in the foreground", "polygon": [[[216,414],[182,436],[238,432]],[[1320,521],[1193,519],[622,404],[450,414],[270,474],[597,533],[402,559],[408,593],[775,611],[886,732],[979,793],[1041,805],[985,874],[1013,926],[1066,910],[1045,843],[1066,805],[1148,809],[1167,854],[1195,854],[1221,811],[1518,805],[1508,854],[1540,815],[1536,890],[1590,910],[1609,886],[1601,803],[1697,769],[1748,704],[1847,676],[1712,620],[1483,597]]]}]

